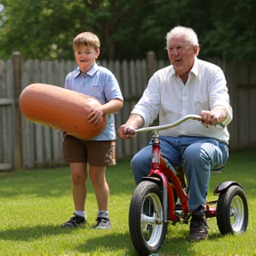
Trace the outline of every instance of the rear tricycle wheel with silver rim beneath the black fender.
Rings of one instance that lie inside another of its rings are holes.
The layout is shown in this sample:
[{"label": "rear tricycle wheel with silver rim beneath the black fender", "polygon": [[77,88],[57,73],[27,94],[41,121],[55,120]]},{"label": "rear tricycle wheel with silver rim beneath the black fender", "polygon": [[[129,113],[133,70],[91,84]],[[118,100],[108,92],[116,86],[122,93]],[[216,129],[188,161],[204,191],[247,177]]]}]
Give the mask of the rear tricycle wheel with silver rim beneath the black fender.
[{"label": "rear tricycle wheel with silver rim beneath the black fender", "polygon": [[243,188],[230,186],[220,191],[216,218],[222,235],[239,234],[247,229],[249,214]]}]

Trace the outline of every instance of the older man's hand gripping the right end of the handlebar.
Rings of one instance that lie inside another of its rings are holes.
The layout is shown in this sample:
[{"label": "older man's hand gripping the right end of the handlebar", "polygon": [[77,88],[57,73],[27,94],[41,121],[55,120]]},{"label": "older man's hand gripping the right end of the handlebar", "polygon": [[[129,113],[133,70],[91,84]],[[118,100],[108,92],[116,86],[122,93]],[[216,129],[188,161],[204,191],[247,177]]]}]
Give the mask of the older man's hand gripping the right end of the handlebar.
[{"label": "older man's hand gripping the right end of the handlebar", "polygon": [[221,124],[227,118],[227,109],[221,106],[213,108],[211,111],[202,110],[200,116],[202,117],[201,123],[204,127],[208,128],[209,125]]}]

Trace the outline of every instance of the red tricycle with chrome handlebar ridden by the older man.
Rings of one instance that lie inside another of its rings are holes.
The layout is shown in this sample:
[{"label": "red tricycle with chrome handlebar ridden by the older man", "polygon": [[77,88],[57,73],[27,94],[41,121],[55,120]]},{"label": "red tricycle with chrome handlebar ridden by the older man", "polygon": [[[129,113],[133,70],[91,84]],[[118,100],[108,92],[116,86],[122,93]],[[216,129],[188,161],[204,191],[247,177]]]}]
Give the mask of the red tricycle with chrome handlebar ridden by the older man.
[{"label": "red tricycle with chrome handlebar ridden by the older man", "polygon": [[[151,169],[134,190],[129,210],[129,230],[132,244],[140,255],[157,252],[164,243],[168,223],[187,223],[188,185],[183,168],[173,168],[161,156],[159,131],[175,127],[188,115],[173,124],[140,128],[137,132],[153,132]],[[168,166],[167,166],[168,165]],[[222,235],[243,233],[248,225],[248,204],[244,188],[236,181],[225,181],[214,190],[218,200],[206,202],[205,217],[217,219]]]}]

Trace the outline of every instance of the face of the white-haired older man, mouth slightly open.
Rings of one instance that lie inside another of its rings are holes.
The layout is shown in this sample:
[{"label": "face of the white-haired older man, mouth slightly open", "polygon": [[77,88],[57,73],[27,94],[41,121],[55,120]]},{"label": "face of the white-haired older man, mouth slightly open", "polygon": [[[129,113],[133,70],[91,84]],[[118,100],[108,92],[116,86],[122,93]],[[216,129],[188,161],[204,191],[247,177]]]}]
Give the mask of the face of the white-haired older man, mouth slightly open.
[{"label": "face of the white-haired older man, mouth slightly open", "polygon": [[184,36],[177,36],[168,41],[166,49],[176,75],[181,76],[193,67],[199,46],[188,44]]}]

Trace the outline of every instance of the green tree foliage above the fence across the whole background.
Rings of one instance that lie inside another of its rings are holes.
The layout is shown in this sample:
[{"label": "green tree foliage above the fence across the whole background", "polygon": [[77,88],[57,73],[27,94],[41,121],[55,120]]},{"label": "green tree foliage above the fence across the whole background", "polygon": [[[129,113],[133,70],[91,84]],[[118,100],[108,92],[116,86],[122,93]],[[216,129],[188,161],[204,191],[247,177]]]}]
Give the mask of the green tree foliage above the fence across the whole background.
[{"label": "green tree foliage above the fence across the whole background", "polygon": [[195,29],[201,59],[253,61],[255,0],[0,0],[0,59],[73,59],[72,40],[84,31],[100,37],[101,59],[138,60],[164,52],[166,33]]}]

